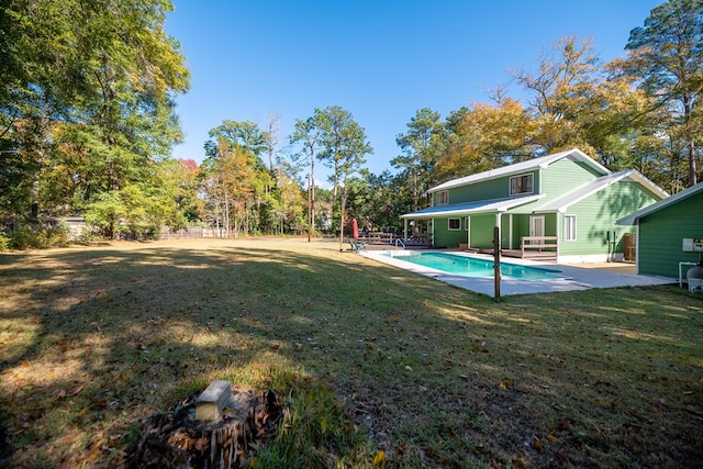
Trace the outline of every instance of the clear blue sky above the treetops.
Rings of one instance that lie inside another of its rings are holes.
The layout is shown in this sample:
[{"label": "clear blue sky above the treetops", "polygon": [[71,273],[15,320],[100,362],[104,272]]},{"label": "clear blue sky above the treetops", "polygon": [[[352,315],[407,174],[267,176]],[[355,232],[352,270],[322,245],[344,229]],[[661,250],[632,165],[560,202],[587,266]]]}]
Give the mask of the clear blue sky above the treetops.
[{"label": "clear blue sky above the treetops", "polygon": [[375,148],[366,166],[389,169],[395,136],[421,108],[447,116],[534,69],[566,35],[591,37],[609,62],[663,0],[174,0],[166,31],[192,74],[178,98],[186,142],[177,158],[202,161],[223,120],[265,129],[277,113],[287,143],[295,120],[341,105]]}]

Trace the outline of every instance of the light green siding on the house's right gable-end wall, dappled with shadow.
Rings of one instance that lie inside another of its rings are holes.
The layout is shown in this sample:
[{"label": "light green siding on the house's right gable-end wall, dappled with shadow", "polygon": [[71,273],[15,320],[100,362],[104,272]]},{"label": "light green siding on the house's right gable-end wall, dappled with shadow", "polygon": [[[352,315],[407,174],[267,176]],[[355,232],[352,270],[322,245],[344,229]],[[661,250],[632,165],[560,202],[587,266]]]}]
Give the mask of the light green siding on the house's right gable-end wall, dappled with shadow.
[{"label": "light green siding on the house's right gable-end wall, dappled with shadow", "polygon": [[[574,203],[567,211],[567,215],[576,215],[577,239],[565,241],[563,233],[559,239],[559,254],[562,256],[609,254],[606,239],[616,232],[617,245],[615,253],[622,253],[622,238],[625,233],[634,230],[615,225],[615,221],[639,209],[652,204],[659,199],[640,185],[622,181],[605,188],[593,196]],[[563,215],[561,226],[563,227]],[[612,249],[612,248],[611,248]]]}]

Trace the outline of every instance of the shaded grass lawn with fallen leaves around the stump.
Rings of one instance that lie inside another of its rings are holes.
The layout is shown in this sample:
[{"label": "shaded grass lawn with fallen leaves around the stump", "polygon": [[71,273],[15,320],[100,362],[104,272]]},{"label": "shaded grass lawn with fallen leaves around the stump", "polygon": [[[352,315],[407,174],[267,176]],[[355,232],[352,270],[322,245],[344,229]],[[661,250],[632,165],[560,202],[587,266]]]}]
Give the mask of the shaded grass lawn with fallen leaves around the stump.
[{"label": "shaded grass lawn with fallen leaves around the stump", "polygon": [[291,409],[250,466],[703,466],[701,298],[495,302],[338,247],[0,255],[0,467],[129,465],[141,422],[214,379]]}]

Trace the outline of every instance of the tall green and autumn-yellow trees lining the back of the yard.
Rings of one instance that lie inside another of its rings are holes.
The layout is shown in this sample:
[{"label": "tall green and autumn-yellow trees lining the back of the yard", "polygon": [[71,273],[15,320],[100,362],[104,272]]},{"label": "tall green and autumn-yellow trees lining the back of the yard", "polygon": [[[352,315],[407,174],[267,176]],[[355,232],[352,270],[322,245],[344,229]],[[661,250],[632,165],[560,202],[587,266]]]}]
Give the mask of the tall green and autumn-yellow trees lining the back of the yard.
[{"label": "tall green and autumn-yellow trees lining the back of the yard", "polygon": [[[176,160],[175,99],[190,86],[168,0],[10,0],[0,7],[0,220],[8,233],[82,215],[96,236],[207,225],[223,236],[341,233],[356,217],[400,230],[455,177],[578,147],[674,193],[701,177],[703,0],[655,8],[603,63],[588,38],[559,38],[487,102],[442,118],[420,109],[397,136],[394,174],[365,168],[365,129],[338,105],[281,135],[224,120],[204,159]],[[316,187],[316,164],[331,189]]]}]

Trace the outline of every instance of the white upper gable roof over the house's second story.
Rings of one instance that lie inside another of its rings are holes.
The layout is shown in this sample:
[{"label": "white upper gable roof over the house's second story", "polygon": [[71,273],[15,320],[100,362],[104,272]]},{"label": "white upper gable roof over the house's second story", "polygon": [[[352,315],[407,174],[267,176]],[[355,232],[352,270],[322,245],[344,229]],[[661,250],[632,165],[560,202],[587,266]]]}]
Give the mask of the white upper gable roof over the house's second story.
[{"label": "white upper gable roof over the house's second story", "polygon": [[427,190],[427,193],[438,192],[440,190],[447,190],[455,187],[467,186],[473,182],[486,181],[486,180],[495,179],[504,176],[516,175],[516,174],[521,174],[521,172],[525,172],[534,169],[546,168],[547,166],[562,158],[570,158],[574,161],[585,163],[587,165],[591,166],[602,175],[611,174],[611,171],[605,166],[595,161],[585,153],[581,152],[578,148],[571,148],[565,152],[540,156],[539,158],[533,158],[526,161],[515,163],[514,165],[503,166],[502,168],[490,169],[488,171],[477,172],[476,175],[453,179],[450,181],[447,181],[447,182],[440,183],[439,186],[435,186],[434,188],[431,188],[429,190]]}]

